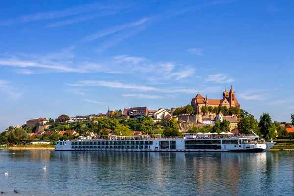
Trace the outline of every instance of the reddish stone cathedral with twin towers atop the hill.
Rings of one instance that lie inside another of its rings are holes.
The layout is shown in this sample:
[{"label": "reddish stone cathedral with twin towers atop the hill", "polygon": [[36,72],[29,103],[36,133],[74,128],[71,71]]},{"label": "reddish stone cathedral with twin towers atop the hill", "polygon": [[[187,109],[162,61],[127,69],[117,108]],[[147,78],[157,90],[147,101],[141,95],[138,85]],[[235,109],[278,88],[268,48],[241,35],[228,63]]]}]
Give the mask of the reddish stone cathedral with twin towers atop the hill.
[{"label": "reddish stone cathedral with twin towers atop the hill", "polygon": [[235,98],[235,91],[233,90],[233,87],[231,87],[230,92],[228,92],[226,89],[224,90],[222,94],[222,99],[207,99],[207,96],[206,98],[204,98],[198,93],[196,97],[192,99],[191,105],[196,114],[200,114],[202,106],[226,106],[227,108],[237,107],[240,109],[240,104]]}]

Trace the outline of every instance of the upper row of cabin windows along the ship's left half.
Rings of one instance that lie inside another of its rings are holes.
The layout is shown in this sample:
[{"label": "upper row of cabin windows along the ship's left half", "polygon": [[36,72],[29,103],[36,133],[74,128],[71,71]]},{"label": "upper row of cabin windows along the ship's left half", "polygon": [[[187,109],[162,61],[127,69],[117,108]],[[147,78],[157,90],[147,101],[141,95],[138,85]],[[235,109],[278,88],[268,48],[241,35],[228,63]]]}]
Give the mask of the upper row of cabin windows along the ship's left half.
[{"label": "upper row of cabin windows along the ship's left half", "polygon": [[71,145],[152,145],[153,141],[71,142]]}]

